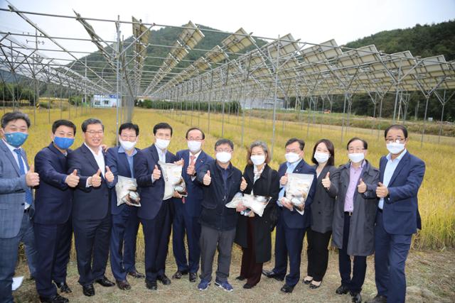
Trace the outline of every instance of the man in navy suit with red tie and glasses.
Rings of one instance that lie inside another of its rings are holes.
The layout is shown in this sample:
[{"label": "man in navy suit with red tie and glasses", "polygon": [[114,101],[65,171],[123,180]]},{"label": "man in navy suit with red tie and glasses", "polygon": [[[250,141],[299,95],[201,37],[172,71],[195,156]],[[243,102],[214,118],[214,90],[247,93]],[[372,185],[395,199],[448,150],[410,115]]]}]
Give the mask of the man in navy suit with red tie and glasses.
[{"label": "man in navy suit with red tie and glasses", "polygon": [[[200,248],[200,203],[203,200],[203,188],[196,180],[196,172],[205,162],[213,160],[202,150],[205,133],[193,127],[186,132],[187,150],[180,150],[176,157],[184,160],[182,177],[185,180],[188,197],[176,198],[173,203],[175,214],[172,222],[172,249],[176,258],[177,272],[174,279],[180,279],[189,272],[190,282],[196,282],[199,269]],[[186,258],[185,239],[188,243],[188,260]]]}]

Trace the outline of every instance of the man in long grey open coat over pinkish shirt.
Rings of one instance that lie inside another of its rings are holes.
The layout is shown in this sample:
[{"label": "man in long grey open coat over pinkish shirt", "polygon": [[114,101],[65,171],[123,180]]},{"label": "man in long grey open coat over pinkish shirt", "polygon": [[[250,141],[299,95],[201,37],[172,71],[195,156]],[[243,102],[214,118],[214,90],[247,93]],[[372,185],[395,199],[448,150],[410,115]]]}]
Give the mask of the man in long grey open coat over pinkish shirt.
[{"label": "man in long grey open coat over pinkish shirt", "polygon": [[[348,142],[350,162],[338,168],[338,197],[332,226],[341,275],[341,286],[336,293],[350,292],[355,303],[362,302],[360,292],[367,270],[366,257],[374,253],[373,228],[378,204],[374,191],[379,170],[365,160],[367,150],[368,143],[363,139],[352,138]],[[352,277],[350,256],[354,256]]]}]

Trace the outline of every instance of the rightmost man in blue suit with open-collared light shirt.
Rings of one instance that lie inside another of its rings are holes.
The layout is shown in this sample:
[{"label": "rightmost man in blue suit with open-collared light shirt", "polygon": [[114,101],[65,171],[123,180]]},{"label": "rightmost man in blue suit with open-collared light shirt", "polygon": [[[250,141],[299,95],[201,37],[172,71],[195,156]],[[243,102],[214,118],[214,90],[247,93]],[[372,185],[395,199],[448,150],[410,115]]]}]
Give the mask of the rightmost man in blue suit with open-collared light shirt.
[{"label": "rightmost man in blue suit with open-collared light shirt", "polygon": [[422,228],[417,194],[425,163],[410,154],[405,126],[389,126],[384,133],[389,154],[379,162],[380,198],[375,226],[375,281],[378,295],[371,302],[405,302],[405,264],[412,233]]}]

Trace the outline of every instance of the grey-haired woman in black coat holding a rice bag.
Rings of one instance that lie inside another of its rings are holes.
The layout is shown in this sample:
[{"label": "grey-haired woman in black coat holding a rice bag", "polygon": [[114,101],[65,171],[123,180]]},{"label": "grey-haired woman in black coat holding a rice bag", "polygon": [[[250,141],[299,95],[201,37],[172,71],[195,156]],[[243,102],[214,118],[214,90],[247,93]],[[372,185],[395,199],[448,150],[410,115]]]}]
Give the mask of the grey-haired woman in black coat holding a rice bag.
[{"label": "grey-haired woman in black coat holding a rice bag", "polygon": [[271,258],[272,228],[277,219],[277,199],[279,193],[279,177],[276,170],[267,164],[270,161],[267,145],[255,141],[247,153],[248,164],[243,172],[243,182],[240,189],[245,194],[272,197],[264,209],[264,214],[258,216],[250,211],[248,216],[240,213],[245,206],[237,207],[239,220],[235,235],[235,243],[242,246],[242,267],[237,280],[247,280],[243,288],[250,289],[261,280],[262,265]]}]

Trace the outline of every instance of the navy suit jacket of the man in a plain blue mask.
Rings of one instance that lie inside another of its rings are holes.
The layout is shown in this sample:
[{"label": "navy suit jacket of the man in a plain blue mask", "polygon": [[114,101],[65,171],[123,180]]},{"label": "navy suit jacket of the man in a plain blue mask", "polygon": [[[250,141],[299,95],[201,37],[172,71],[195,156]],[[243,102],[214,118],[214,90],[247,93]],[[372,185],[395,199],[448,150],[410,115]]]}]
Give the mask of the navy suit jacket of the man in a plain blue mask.
[{"label": "navy suit jacket of the man in a plain blue mask", "polygon": [[35,172],[40,175],[40,184],[35,190],[33,222],[64,224],[73,207],[73,189],[65,183],[68,176],[66,156],[50,143],[36,154]]}]

